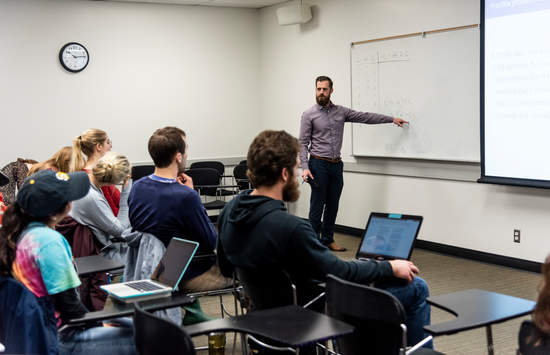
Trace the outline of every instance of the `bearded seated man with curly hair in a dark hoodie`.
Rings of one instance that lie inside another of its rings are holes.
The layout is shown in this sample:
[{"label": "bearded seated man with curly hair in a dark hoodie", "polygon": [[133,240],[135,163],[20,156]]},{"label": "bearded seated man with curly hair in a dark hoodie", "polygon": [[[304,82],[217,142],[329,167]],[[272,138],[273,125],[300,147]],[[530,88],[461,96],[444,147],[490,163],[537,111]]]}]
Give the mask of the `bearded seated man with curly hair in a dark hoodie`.
[{"label": "bearded seated man with curly hair in a dark hoodie", "polygon": [[[307,221],[287,212],[284,202],[300,195],[299,151],[298,140],[285,131],[264,131],[250,145],[248,176],[255,189],[231,200],[218,221],[222,272],[229,275],[233,266],[285,270],[298,292],[308,287],[308,281],[325,280],[327,274],[361,284],[380,282],[403,304],[407,343],[416,344],[425,338],[423,326],[430,323],[428,286],[415,276],[417,267],[406,260],[343,261],[321,244]],[[425,346],[433,347],[431,342]]]}]

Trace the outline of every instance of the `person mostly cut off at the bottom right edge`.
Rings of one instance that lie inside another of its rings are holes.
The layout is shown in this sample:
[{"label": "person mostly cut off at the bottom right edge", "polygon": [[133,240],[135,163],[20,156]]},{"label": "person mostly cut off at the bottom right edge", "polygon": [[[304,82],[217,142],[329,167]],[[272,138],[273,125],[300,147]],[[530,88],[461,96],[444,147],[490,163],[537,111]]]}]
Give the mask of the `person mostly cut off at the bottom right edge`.
[{"label": "person mostly cut off at the bottom right edge", "polygon": [[532,321],[524,321],[519,331],[519,354],[550,354],[550,255],[542,265],[542,284]]}]

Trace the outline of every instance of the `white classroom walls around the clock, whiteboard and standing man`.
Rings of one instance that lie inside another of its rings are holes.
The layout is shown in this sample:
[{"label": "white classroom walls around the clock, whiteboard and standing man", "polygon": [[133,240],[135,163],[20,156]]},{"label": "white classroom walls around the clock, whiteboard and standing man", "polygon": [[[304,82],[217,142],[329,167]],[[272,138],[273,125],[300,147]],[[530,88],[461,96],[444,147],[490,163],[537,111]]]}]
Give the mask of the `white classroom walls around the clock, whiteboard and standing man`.
[{"label": "white classroom walls around the clock, whiteboard and standing man", "polygon": [[[478,0],[313,4],[312,22],[281,27],[276,7],[0,1],[0,164],[45,159],[89,127],[109,132],[133,162],[148,161],[149,135],[169,124],[188,132],[190,159],[244,156],[260,129],[298,134],[317,75],[333,77],[334,101],[350,104],[350,42],[479,22]],[[59,65],[69,41],[90,51],[79,74]],[[348,127],[344,159],[373,171],[373,162],[350,152]],[[447,167],[439,169],[425,176]],[[374,173],[344,178],[338,224],[363,228],[370,211],[401,211],[425,217],[424,240],[532,261],[550,252],[549,191]],[[302,190],[293,209],[307,216],[309,188]]]}]

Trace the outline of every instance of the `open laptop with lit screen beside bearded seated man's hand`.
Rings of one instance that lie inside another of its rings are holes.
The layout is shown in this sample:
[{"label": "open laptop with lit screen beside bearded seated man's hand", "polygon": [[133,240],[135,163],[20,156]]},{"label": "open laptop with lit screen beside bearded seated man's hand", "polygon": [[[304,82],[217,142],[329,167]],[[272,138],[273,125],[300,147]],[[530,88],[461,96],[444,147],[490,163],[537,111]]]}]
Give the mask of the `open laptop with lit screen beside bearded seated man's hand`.
[{"label": "open laptop with lit screen beside bearded seated man's hand", "polygon": [[409,260],[422,219],[421,216],[372,212],[356,259]]}]

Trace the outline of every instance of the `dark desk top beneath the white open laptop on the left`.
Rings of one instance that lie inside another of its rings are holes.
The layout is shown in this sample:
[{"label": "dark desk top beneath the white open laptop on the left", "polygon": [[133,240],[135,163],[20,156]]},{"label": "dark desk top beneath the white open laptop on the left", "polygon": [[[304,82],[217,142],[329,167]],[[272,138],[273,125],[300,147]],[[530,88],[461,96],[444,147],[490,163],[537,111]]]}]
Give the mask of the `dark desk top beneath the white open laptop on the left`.
[{"label": "dark desk top beneath the white open laptop on the left", "polygon": [[[133,302],[123,303],[111,297],[109,297],[109,299],[112,302],[106,302],[105,307],[101,311],[88,312],[82,318],[71,319],[68,324],[78,324],[90,321],[100,321],[106,319],[127,317],[134,314]],[[145,301],[139,301],[139,306],[144,311],[154,312],[166,308],[185,306],[193,303],[194,301],[194,297],[175,293],[170,295],[169,297],[160,297]]]}]

